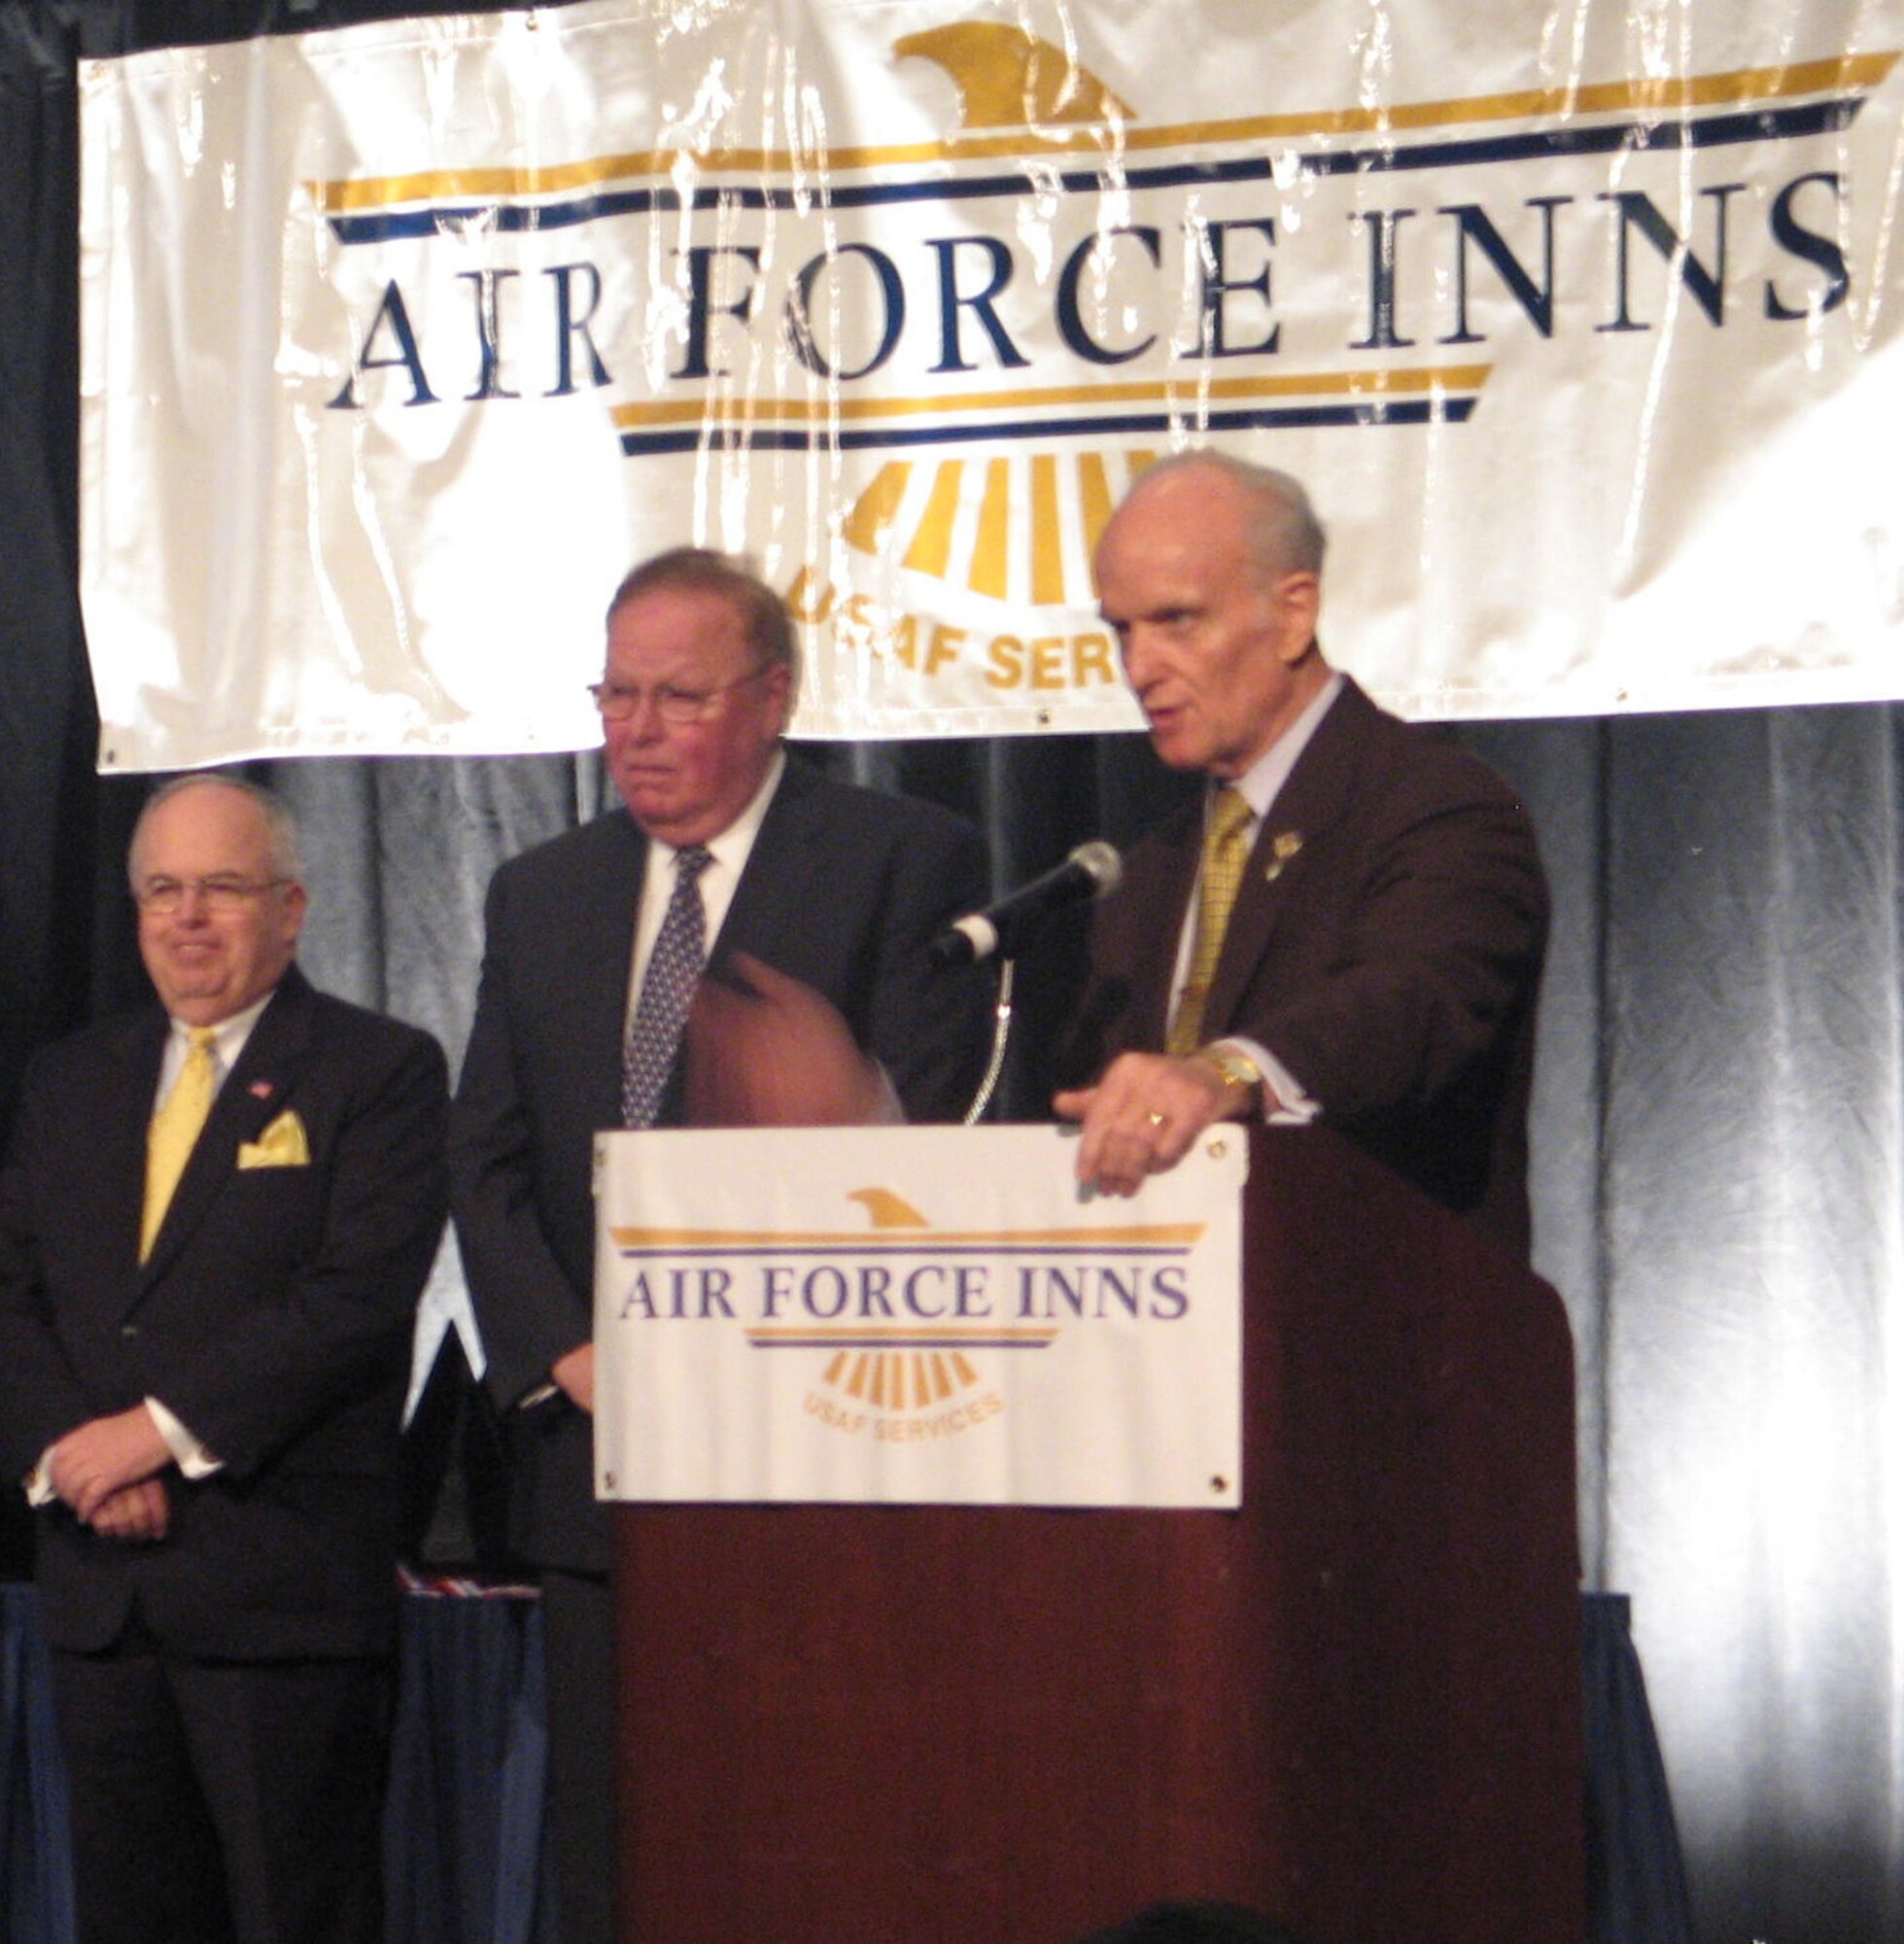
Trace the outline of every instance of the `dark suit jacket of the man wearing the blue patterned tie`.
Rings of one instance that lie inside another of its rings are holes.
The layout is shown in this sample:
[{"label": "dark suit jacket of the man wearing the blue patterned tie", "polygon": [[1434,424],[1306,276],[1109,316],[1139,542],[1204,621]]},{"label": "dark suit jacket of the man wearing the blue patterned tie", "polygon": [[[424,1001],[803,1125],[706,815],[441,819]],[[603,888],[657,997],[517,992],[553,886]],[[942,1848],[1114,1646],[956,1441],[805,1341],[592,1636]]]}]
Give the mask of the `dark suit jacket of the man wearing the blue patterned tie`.
[{"label": "dark suit jacket of the man wearing the blue patterned tie", "polygon": [[[593,1149],[622,1118],[645,861],[647,838],[614,811],[495,873],[451,1110],[457,1238],[511,1435],[513,1544],[575,1571],[608,1565],[589,1417],[565,1398],[517,1404],[591,1334]],[[983,1071],[989,982],[935,968],[925,947],[985,894],[968,824],[789,760],[709,958],[746,951],[804,980],[880,1059],[909,1118],[952,1120]]]}]

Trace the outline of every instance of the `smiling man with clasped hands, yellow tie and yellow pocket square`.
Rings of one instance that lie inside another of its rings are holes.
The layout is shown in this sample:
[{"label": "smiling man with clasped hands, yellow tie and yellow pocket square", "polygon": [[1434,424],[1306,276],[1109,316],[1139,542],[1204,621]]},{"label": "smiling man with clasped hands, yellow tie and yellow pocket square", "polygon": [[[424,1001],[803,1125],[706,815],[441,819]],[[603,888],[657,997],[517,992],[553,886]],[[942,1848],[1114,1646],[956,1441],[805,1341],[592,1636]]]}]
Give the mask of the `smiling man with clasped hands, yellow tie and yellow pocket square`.
[{"label": "smiling man with clasped hands, yellow tie and yellow pocket square", "polygon": [[80,1936],[373,1944],[443,1054],[299,976],[268,793],[167,785],[130,875],[159,1005],[31,1063],[0,1176]]}]

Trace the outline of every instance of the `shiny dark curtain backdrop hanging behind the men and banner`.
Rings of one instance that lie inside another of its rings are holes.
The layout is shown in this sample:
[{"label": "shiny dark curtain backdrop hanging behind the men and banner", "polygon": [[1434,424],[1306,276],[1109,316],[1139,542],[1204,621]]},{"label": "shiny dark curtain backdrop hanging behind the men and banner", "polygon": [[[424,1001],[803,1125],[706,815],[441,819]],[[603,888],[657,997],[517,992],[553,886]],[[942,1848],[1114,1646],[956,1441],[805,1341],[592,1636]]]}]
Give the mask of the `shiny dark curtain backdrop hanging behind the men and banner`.
[{"label": "shiny dark curtain backdrop hanging behind the men and banner", "polygon": [[[0,1126],[27,1048],[144,989],[120,881],[144,785],[91,774],[74,597],[74,60],[398,12],[429,8],[0,6]],[[1527,795],[1554,881],[1537,1256],[1578,1345],[1587,1584],[1632,1598],[1696,1934],[1904,1940],[1900,715],[1467,739]],[[826,758],[975,816],[1001,885],[1131,836],[1173,787],[1135,739]],[[455,1056],[490,869],[593,815],[595,762],[272,780],[309,838],[311,974]],[[1028,968],[1020,1112],[1074,945]]]}]

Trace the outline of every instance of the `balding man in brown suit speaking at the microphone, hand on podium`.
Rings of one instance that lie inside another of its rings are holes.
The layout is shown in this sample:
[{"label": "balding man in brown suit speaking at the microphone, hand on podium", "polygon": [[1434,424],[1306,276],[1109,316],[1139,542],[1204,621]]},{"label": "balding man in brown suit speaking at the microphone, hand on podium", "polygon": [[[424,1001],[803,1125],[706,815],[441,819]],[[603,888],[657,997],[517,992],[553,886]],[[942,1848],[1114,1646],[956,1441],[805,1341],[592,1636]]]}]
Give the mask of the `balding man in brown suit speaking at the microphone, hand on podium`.
[{"label": "balding man in brown suit speaking at the microphone, hand on podium", "polygon": [[1210,787],[1100,904],[1057,1096],[1131,1194],[1218,1118],[1321,1118],[1525,1256],[1547,886],[1475,756],[1377,710],[1315,640],[1296,480],[1152,467],[1098,546],[1104,618],[1172,768]]}]

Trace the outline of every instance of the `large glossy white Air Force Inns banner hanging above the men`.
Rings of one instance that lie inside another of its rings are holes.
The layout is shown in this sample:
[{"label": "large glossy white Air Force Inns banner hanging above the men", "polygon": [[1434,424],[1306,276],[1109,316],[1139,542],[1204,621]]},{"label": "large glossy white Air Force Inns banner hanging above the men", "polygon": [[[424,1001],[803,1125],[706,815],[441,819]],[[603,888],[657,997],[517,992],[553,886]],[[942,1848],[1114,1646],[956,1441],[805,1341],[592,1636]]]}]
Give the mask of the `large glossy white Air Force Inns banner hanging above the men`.
[{"label": "large glossy white Air Force Inns banner hanging above the men", "polygon": [[799,733],[1131,727],[1090,550],[1304,476],[1385,702],[1904,694],[1904,0],[703,0],[95,62],[105,768],[596,739],[752,554]]}]

